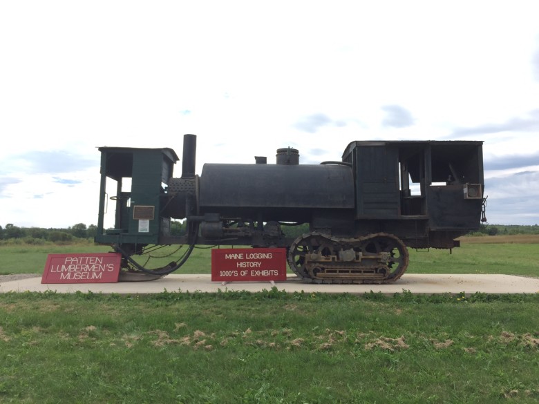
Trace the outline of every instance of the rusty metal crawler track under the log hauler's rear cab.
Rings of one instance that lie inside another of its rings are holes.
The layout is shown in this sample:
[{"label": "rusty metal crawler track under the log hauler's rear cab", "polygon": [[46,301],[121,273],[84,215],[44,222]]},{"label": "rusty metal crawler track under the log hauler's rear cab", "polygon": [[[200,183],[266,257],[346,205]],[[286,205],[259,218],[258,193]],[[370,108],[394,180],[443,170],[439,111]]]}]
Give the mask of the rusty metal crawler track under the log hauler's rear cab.
[{"label": "rusty metal crawler track under the log hauler's rear cab", "polygon": [[305,282],[390,283],[408,267],[404,243],[387,233],[360,238],[336,238],[308,233],[296,238],[288,263]]}]

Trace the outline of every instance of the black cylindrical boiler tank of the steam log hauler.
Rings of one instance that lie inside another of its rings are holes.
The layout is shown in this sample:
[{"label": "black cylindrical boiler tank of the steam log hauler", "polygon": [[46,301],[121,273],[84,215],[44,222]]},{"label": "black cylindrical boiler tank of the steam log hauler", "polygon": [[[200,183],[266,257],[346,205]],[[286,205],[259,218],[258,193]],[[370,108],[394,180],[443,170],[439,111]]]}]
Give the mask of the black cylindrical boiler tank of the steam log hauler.
[{"label": "black cylindrical boiler tank of the steam log hauler", "polygon": [[333,164],[204,164],[200,213],[295,220],[309,209],[353,209],[349,166]]}]

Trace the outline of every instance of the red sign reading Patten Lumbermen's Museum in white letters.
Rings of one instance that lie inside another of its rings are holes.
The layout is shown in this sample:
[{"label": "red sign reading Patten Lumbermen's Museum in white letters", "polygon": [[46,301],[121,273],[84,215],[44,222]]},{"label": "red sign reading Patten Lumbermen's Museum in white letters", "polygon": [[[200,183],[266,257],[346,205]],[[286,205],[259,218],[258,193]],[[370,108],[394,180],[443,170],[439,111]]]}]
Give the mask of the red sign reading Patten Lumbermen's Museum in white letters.
[{"label": "red sign reading Patten Lumbermen's Museum in white letters", "polygon": [[120,275],[120,253],[49,254],[41,283],[113,283]]}]

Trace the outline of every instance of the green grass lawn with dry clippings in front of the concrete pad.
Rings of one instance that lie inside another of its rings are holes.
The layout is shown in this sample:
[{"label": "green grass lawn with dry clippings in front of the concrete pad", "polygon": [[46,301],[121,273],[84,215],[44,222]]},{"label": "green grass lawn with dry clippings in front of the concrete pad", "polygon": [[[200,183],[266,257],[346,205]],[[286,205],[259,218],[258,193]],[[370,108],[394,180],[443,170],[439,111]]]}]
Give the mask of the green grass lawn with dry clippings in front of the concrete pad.
[{"label": "green grass lawn with dry clippings in front of the concrete pad", "polygon": [[0,294],[1,403],[536,403],[539,295]]}]

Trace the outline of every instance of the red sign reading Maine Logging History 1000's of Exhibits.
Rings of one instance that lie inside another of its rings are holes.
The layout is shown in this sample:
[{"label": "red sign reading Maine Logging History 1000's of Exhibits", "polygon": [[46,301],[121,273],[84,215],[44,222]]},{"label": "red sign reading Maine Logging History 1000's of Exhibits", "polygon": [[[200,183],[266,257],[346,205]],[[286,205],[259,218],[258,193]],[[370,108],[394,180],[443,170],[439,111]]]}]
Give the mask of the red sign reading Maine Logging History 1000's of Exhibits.
[{"label": "red sign reading Maine Logging History 1000's of Exhibits", "polygon": [[286,280],[286,249],[213,249],[211,280]]}]

